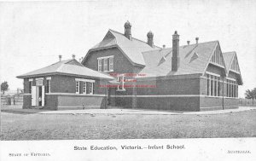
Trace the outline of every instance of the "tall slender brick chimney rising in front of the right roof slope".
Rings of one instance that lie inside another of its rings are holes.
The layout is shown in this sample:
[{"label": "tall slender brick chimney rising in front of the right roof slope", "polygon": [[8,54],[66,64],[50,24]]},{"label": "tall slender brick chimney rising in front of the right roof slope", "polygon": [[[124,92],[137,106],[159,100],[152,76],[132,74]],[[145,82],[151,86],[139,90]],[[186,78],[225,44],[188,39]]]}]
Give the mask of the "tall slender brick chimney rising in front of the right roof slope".
[{"label": "tall slender brick chimney rising in front of the right roof slope", "polygon": [[177,72],[179,66],[179,35],[177,31],[172,35],[172,72]]}]

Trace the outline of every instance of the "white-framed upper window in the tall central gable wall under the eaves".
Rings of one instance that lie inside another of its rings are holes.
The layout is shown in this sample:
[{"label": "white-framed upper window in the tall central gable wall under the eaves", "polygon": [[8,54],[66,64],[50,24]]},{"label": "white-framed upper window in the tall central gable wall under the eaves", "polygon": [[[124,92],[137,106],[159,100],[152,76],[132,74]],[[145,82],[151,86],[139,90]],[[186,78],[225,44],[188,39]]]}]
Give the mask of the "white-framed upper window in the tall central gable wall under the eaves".
[{"label": "white-framed upper window in the tall central gable wall under the eaves", "polygon": [[113,72],[113,55],[98,58],[99,72]]}]

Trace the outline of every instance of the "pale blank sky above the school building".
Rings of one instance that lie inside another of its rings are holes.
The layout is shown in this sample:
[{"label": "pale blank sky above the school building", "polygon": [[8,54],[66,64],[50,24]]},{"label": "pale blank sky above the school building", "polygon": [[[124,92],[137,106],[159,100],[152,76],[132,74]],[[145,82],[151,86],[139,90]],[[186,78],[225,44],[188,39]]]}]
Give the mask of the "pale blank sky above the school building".
[{"label": "pale blank sky above the school building", "polygon": [[0,82],[9,89],[23,89],[26,72],[62,59],[77,60],[113,29],[124,32],[131,22],[131,35],[154,44],[172,47],[172,34],[180,45],[218,40],[223,52],[236,51],[243,85],[256,87],[256,1],[253,0],[110,0],[83,2],[0,2]]}]

